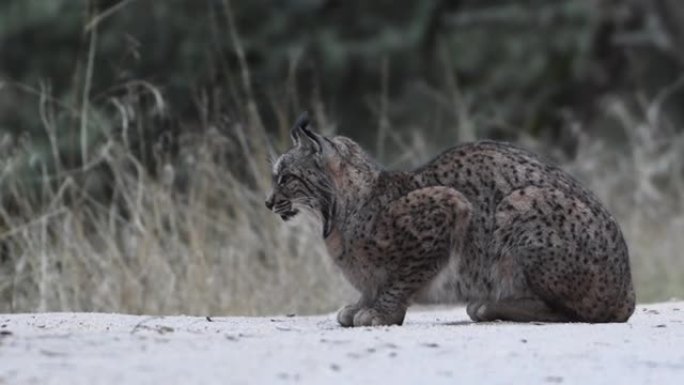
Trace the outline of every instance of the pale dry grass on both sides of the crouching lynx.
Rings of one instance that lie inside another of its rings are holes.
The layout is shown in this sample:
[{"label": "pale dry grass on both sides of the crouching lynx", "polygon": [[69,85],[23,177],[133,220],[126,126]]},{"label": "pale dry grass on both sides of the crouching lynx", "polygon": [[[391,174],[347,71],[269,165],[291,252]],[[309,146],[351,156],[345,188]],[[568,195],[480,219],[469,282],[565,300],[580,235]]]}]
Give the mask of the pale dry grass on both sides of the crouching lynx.
[{"label": "pale dry grass on both sides of the crouching lynx", "polygon": [[[580,136],[566,168],[619,218],[640,300],[681,297],[684,136],[623,107],[610,111],[629,151]],[[268,165],[250,148],[265,138],[239,124],[223,131],[182,137],[180,160],[160,162],[154,177],[113,138],[91,149],[87,166],[58,174],[46,171],[51,157],[6,145],[13,150],[0,154],[3,198],[17,205],[0,210],[0,311],[314,313],[349,300],[318,225],[285,226],[263,207]],[[416,158],[429,152],[421,140],[404,147]],[[239,156],[226,161],[226,153]],[[24,163],[42,170],[39,183],[27,181]],[[89,187],[103,168],[113,181],[109,204]]]}]

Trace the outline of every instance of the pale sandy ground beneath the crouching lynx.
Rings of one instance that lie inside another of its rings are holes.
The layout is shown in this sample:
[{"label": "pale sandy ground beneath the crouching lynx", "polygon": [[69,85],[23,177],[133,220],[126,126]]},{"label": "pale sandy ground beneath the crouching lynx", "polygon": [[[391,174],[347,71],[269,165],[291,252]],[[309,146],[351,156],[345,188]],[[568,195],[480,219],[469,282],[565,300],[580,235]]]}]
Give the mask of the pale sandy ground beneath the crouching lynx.
[{"label": "pale sandy ground beneath the crouching lynx", "polygon": [[626,324],[468,321],[401,327],[317,317],[0,315],[0,384],[684,384],[684,302]]}]

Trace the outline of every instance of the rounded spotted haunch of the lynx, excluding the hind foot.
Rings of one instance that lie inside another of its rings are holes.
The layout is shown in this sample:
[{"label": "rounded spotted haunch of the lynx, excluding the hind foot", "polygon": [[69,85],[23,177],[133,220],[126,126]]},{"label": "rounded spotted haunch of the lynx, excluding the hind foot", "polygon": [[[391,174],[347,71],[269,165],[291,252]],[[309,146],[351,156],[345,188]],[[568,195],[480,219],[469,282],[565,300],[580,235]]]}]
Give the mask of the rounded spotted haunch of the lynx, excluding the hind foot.
[{"label": "rounded spotted haunch of the lynx, excluding the hind foot", "polygon": [[495,238],[529,292],[568,321],[624,322],[618,313],[633,309],[627,249],[617,224],[588,204],[553,188],[515,191],[500,204]]}]

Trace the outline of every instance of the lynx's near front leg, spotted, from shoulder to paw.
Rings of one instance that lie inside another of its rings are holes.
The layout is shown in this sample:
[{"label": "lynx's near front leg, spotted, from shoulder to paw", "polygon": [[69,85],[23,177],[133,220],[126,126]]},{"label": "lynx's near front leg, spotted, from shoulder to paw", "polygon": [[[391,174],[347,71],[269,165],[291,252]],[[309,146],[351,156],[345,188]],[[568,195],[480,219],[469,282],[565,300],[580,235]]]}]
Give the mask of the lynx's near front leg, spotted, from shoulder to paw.
[{"label": "lynx's near front leg, spotted, from shoulder to paw", "polygon": [[385,282],[354,326],[401,325],[413,296],[446,266],[460,247],[470,220],[470,204],[458,191],[428,187],[390,203],[375,229]]}]

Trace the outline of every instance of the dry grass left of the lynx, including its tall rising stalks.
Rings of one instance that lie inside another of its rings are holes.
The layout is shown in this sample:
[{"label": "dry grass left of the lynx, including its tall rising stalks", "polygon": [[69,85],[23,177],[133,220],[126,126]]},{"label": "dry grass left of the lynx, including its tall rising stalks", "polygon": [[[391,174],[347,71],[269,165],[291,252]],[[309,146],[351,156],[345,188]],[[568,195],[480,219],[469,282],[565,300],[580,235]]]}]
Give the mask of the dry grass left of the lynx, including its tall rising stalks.
[{"label": "dry grass left of the lynx, including its tall rising stalks", "polygon": [[[79,106],[55,100],[49,88],[8,82],[39,99],[47,141],[0,138],[0,312],[312,313],[351,296],[318,225],[283,226],[263,207],[272,149],[230,1],[224,5],[241,59],[242,89],[231,93],[244,98],[247,123],[211,121],[204,100],[200,133],[177,138],[174,155],[143,143],[157,169],[139,161],[140,142],[131,138],[145,138],[164,114],[161,92],[137,81],[113,89],[128,90],[123,96],[90,96],[97,24],[122,7],[92,15],[85,27]],[[74,152],[65,137],[77,138],[74,169],[64,166]]]}]

